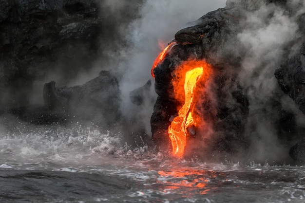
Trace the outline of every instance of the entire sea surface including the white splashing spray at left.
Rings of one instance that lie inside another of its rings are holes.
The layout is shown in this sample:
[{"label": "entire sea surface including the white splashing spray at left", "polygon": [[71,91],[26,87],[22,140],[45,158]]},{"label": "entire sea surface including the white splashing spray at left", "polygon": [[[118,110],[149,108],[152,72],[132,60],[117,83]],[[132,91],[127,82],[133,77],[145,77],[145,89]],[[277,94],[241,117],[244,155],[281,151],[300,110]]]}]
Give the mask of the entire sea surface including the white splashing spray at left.
[{"label": "entire sea surface including the white splashing spray at left", "polygon": [[90,128],[0,134],[0,203],[304,203],[305,166],[207,164]]}]

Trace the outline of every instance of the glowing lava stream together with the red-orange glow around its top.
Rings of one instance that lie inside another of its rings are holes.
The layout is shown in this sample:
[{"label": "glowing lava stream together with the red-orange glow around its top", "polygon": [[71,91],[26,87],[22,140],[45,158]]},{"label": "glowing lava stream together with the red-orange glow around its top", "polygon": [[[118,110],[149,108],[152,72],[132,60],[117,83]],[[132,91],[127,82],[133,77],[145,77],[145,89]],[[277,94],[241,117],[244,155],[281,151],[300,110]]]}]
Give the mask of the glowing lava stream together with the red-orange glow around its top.
[{"label": "glowing lava stream together with the red-orange glow around its top", "polygon": [[[172,155],[182,157],[184,148],[187,145],[187,129],[191,125],[196,126],[193,118],[192,104],[194,100],[194,90],[197,82],[205,81],[210,75],[210,66],[205,61],[187,61],[177,68],[178,74],[183,74],[186,71],[184,87],[179,87],[179,82],[173,84],[176,97],[184,96],[184,104],[178,111],[171,125],[168,128],[169,137],[172,143]],[[183,93],[182,93],[183,92]],[[181,100],[181,98],[177,98]]]}]

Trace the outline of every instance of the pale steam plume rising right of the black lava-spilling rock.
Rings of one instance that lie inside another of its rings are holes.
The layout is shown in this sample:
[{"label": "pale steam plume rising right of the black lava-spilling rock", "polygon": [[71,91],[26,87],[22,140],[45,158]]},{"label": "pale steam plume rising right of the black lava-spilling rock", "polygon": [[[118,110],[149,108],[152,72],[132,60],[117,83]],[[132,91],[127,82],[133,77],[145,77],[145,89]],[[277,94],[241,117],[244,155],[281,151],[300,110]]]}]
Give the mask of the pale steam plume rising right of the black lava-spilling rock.
[{"label": "pale steam plume rising right of the black lava-spilling rock", "polygon": [[[291,3],[290,7],[295,4]],[[292,42],[299,34],[296,16],[288,16],[283,8],[273,3],[262,5],[258,10],[247,11],[247,18],[241,23],[243,31],[238,38],[248,50],[240,73],[250,103],[246,136],[251,140],[252,155],[259,161],[266,161],[287,156],[287,150],[280,147],[282,145],[274,126],[274,120],[278,119],[274,101],[281,100],[283,95],[274,73],[283,62],[285,48],[290,44],[289,52],[294,51]],[[292,14],[301,9],[304,8],[298,7]],[[289,102],[293,103],[292,100]]]}]

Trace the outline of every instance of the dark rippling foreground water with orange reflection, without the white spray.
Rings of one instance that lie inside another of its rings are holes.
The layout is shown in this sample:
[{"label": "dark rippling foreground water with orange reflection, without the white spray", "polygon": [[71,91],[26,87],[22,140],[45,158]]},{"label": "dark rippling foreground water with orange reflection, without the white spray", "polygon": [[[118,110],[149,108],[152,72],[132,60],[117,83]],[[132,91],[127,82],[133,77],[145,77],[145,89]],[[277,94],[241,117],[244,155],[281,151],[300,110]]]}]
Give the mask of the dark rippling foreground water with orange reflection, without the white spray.
[{"label": "dark rippling foreground water with orange reflection, without the white spray", "polygon": [[118,160],[0,169],[1,203],[304,203],[304,197],[304,167]]}]

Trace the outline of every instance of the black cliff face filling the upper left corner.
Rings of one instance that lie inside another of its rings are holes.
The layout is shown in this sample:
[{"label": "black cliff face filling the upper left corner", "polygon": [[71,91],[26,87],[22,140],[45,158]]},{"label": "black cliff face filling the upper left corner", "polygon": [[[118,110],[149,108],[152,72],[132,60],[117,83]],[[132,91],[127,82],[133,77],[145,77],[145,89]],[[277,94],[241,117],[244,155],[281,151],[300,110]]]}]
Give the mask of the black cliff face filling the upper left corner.
[{"label": "black cliff face filling the upper left corner", "polygon": [[96,1],[1,0],[0,11],[0,106],[30,105],[35,81],[60,68],[61,80],[72,78],[94,62],[103,25]]}]

